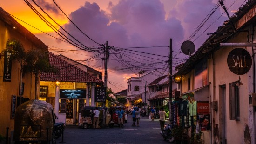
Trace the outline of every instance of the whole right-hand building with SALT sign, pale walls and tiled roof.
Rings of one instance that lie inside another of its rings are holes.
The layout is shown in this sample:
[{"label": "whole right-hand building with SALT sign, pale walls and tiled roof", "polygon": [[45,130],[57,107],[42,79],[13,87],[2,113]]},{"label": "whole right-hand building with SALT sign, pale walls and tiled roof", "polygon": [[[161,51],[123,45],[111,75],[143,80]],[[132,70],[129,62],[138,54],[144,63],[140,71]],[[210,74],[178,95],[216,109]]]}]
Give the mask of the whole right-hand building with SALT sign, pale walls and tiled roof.
[{"label": "whole right-hand building with SALT sign, pale walls and tiled roof", "polygon": [[182,99],[197,103],[205,144],[256,144],[255,12],[248,0],[175,74]]}]

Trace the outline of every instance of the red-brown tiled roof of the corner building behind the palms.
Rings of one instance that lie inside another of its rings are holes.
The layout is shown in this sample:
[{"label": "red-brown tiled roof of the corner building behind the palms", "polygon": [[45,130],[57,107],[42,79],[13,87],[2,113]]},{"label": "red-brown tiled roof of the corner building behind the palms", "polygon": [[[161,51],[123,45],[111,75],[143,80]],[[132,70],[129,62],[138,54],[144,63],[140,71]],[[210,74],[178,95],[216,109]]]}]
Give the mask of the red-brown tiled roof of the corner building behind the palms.
[{"label": "red-brown tiled roof of the corner building behind the palms", "polygon": [[59,58],[54,53],[49,52],[50,65],[59,70],[57,74],[42,73],[40,75],[40,81],[60,81],[60,82],[96,82],[103,83],[101,79],[84,72],[80,68],[68,63],[67,61]]}]

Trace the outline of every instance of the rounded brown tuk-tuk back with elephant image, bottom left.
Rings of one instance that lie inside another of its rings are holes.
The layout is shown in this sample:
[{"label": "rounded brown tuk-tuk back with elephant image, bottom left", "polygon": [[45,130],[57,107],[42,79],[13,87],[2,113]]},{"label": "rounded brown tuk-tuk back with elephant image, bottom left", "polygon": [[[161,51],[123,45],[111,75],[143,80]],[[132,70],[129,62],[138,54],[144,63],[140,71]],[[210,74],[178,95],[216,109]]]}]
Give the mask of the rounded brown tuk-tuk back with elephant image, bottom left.
[{"label": "rounded brown tuk-tuk back with elephant image, bottom left", "polygon": [[15,144],[48,144],[54,140],[55,117],[51,104],[29,100],[18,106],[14,118]]}]

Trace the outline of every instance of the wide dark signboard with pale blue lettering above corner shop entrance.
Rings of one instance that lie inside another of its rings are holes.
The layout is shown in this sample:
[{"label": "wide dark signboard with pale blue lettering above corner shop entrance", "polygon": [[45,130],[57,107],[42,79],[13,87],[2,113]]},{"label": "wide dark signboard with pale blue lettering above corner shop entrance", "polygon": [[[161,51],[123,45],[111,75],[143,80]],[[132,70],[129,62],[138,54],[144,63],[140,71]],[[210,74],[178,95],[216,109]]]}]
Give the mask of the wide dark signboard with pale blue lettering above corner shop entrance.
[{"label": "wide dark signboard with pale blue lettering above corner shop entrance", "polygon": [[86,90],[64,90],[60,89],[60,98],[64,99],[85,99]]}]

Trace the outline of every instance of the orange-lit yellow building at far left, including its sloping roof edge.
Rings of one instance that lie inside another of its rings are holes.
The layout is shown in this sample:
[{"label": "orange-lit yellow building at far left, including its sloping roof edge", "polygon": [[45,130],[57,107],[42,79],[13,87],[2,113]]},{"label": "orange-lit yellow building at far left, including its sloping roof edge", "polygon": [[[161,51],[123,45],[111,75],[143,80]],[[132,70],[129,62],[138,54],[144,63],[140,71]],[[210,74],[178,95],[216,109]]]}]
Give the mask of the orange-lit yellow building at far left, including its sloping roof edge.
[{"label": "orange-lit yellow building at far left, including its sloping roof edge", "polygon": [[5,72],[5,61],[7,56],[3,53],[3,50],[7,48],[7,41],[15,39],[19,41],[25,51],[32,48],[38,48],[48,51],[48,47],[34,34],[29,32],[25,27],[21,26],[12,16],[9,15],[0,7],[0,51],[1,51],[1,63],[0,63],[0,135],[6,136],[8,128],[8,139],[11,137],[11,133],[14,131],[14,115],[18,105],[20,105],[20,92],[22,95],[22,102],[35,98],[35,77],[31,73],[25,73],[22,77],[22,91],[20,90],[20,64],[15,59],[9,59],[10,63],[8,67],[9,80],[5,81],[7,73]]}]

